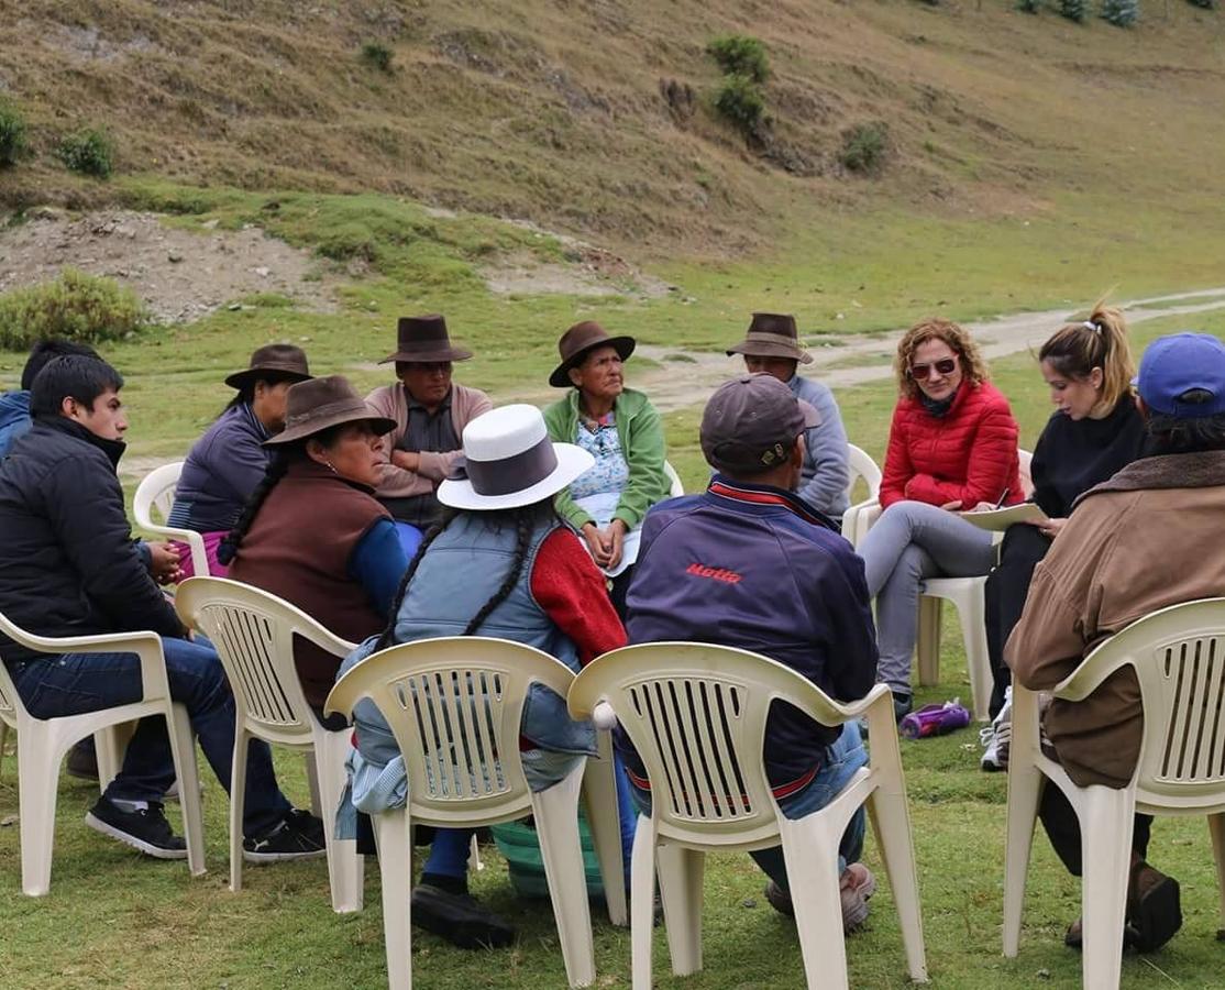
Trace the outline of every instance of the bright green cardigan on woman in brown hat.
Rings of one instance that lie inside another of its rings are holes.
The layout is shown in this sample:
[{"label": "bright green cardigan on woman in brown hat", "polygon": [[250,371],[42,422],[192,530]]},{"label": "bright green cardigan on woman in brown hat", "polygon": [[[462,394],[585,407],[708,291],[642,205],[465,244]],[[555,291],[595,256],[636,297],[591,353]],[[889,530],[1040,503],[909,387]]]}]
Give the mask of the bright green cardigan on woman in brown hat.
[{"label": "bright green cardigan on woman in brown hat", "polygon": [[[630,529],[635,529],[650,506],[668,497],[670,485],[664,473],[664,426],[646,395],[633,388],[626,388],[617,396],[612,413],[621,451],[630,466],[630,480],[626,482],[612,518],[622,520]],[[544,421],[549,428],[550,440],[575,444],[578,440],[578,390],[572,388],[561,402],[546,408]],[[570,489],[557,494],[557,513],[575,529],[594,522],[570,497]]]}]

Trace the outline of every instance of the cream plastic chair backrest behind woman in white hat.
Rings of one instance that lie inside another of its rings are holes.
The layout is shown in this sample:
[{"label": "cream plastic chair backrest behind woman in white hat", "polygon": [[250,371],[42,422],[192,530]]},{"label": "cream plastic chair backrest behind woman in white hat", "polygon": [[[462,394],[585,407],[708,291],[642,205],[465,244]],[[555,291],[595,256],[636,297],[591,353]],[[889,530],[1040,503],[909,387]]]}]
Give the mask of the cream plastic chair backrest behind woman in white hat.
[{"label": "cream plastic chair backrest behind woman in white hat", "polygon": [[370,698],[404,757],[409,814],[435,825],[526,814],[518,756],[533,684],[565,697],[573,673],[534,647],[484,636],[418,640],[371,654],[336,682],[325,712]]}]

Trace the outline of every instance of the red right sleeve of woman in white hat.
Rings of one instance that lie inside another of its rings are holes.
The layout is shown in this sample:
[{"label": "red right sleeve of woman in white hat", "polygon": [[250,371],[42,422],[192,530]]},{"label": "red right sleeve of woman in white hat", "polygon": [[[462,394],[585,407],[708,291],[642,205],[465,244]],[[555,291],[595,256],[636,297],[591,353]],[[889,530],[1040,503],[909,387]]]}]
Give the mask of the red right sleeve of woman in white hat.
[{"label": "red right sleeve of woman in white hat", "polygon": [[584,667],[626,644],[604,575],[570,529],[554,529],[532,567],[532,597],[578,648]]}]

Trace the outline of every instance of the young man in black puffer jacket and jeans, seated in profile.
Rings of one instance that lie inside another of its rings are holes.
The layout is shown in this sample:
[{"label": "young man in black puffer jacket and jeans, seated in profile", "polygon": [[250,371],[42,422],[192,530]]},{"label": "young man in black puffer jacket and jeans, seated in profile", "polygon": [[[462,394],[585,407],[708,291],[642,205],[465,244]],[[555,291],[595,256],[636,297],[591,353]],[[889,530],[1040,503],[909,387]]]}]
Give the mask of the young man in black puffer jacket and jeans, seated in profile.
[{"label": "young man in black puffer jacket and jeans, seated in profile", "polygon": [[[61,357],[34,379],[33,428],[0,469],[0,611],[42,636],[152,630],[170,696],[187,708],[213,772],[229,787],[234,697],[216,651],[191,642],[141,561],[115,468],[127,419],[123,379],[96,358]],[[0,657],[36,718],[80,714],[142,696],[135,653],[47,654],[0,636]],[[162,810],[174,763],[160,718],[142,719],[119,776],[86,815],[97,831],[159,859],[186,856]],[[263,744],[247,762],[244,849],[265,861],[323,850],[322,825],[277,788]]]}]

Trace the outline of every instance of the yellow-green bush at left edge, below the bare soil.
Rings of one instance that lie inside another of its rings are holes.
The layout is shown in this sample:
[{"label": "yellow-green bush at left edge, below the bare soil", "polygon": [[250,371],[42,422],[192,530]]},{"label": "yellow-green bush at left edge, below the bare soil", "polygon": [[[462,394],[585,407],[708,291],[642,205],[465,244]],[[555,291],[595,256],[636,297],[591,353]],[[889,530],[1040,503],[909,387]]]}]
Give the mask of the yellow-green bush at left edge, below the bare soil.
[{"label": "yellow-green bush at left edge, below the bare soil", "polygon": [[65,268],[54,282],[0,295],[0,347],[9,350],[27,350],[44,337],[87,344],[118,341],[148,322],[131,289],[76,268]]}]

